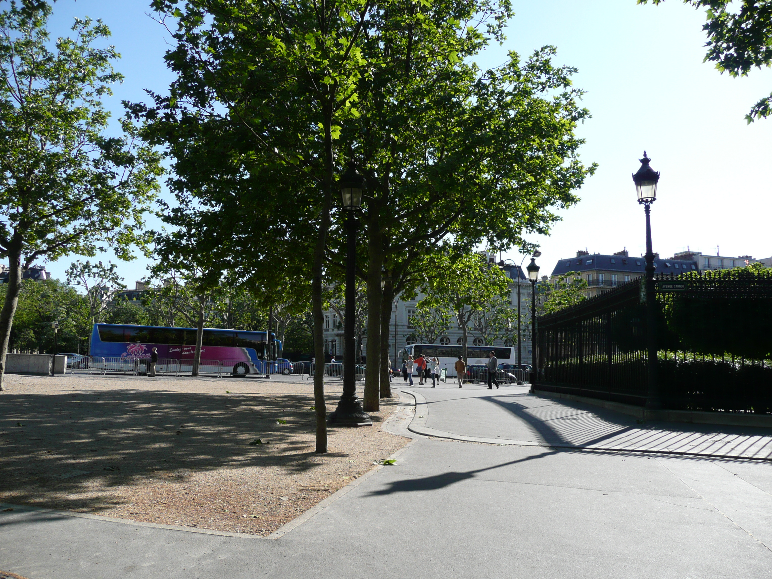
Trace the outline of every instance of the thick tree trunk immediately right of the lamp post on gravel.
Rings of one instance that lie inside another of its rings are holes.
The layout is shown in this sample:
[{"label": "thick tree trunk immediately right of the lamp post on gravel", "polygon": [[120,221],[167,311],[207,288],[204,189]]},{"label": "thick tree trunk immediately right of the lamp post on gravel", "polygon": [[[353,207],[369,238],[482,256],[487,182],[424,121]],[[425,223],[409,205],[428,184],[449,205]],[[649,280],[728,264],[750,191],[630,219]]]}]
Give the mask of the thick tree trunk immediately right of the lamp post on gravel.
[{"label": "thick tree trunk immediately right of the lamp post on gravel", "polygon": [[[377,212],[376,209],[371,211]],[[381,267],[384,255],[376,215],[367,227],[367,365],[364,378],[365,412],[378,412],[381,398]]]}]

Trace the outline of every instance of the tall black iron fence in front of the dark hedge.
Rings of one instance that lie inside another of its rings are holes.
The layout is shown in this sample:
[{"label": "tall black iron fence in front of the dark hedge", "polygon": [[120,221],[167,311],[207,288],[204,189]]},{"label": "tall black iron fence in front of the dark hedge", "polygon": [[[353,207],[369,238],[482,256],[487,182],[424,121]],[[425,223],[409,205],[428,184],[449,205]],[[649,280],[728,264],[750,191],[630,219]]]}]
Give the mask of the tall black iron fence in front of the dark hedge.
[{"label": "tall black iron fence in front of the dark hedge", "polygon": [[[665,408],[772,413],[772,271],[657,280]],[[633,280],[540,317],[534,388],[644,405],[642,283]]]}]

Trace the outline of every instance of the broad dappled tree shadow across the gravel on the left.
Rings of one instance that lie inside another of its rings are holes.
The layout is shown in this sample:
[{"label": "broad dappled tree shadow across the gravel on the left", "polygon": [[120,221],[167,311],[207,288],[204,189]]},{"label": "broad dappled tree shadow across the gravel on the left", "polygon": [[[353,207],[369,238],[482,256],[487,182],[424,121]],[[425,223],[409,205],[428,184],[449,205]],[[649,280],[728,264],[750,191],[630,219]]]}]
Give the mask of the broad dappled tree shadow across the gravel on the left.
[{"label": "broad dappled tree shadow across the gravel on the left", "polygon": [[[328,405],[336,400],[330,394]],[[345,454],[314,452],[312,394],[120,389],[8,393],[2,405],[0,497],[12,492],[13,503],[40,503],[48,493],[66,496],[49,506],[98,509],[106,499],[85,496],[93,483],[185,482],[195,472],[246,466],[300,473]]]}]

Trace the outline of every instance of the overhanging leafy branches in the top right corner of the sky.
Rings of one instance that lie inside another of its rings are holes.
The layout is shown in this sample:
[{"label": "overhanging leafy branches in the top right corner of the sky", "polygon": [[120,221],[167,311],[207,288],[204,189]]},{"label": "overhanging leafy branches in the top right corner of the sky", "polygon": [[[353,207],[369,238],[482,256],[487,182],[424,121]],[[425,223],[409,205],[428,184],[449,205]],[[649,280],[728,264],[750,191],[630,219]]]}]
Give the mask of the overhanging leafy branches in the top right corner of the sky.
[{"label": "overhanging leafy branches in the top right corner of the sky", "polygon": [[[652,0],[659,4],[664,0]],[[772,66],[772,0],[683,0],[695,8],[706,8],[708,50],[705,60],[716,63],[720,73],[747,76],[750,69]],[[637,0],[647,4],[648,0]],[[772,93],[753,105],[748,123],[770,116]]]}]

